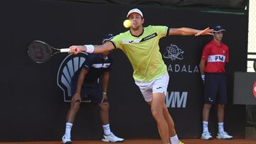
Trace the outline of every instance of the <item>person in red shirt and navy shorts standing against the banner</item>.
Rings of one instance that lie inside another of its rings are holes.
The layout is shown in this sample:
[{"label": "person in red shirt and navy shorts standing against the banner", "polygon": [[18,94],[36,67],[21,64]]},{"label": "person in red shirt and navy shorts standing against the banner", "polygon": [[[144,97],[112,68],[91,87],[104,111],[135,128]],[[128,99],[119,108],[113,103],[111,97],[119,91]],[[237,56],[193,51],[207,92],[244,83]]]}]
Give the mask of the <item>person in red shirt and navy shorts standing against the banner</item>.
[{"label": "person in red shirt and navy shorts standing against the banner", "polygon": [[[227,103],[225,63],[228,62],[228,46],[222,42],[225,29],[215,26],[213,40],[203,48],[200,72],[204,83],[205,104],[203,106],[203,133],[201,139],[213,137],[208,131],[210,108],[218,100],[218,135],[219,139],[230,139],[232,136],[224,131],[224,107]],[[218,97],[217,97],[218,96]],[[217,99],[218,98],[218,99]]]}]

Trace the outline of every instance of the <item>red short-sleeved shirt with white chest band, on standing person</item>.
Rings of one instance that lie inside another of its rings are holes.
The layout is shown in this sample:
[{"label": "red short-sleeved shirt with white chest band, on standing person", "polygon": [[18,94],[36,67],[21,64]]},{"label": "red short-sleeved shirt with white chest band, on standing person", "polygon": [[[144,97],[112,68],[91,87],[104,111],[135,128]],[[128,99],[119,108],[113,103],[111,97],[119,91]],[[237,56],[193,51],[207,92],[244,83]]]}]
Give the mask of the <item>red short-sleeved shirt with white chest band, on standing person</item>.
[{"label": "red short-sleeved shirt with white chest band, on standing person", "polygon": [[222,73],[225,72],[225,62],[228,62],[228,46],[224,43],[211,40],[203,48],[201,60],[206,60],[205,72]]}]

